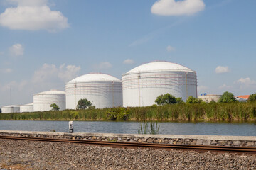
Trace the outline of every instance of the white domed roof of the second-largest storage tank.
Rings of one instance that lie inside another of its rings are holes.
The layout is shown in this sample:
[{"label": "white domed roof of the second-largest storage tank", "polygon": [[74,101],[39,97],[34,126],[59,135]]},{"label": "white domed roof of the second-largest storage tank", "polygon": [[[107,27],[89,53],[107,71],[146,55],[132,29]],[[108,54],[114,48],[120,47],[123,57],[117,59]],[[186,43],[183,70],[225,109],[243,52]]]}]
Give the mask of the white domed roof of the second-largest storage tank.
[{"label": "white domed roof of the second-largest storage tank", "polygon": [[77,77],[71,81],[70,83],[79,83],[79,82],[90,82],[90,81],[115,81],[115,82],[121,82],[120,79],[117,79],[117,77],[110,76],[108,74],[102,74],[102,73],[90,73],[90,74],[84,74],[80,77]]}]

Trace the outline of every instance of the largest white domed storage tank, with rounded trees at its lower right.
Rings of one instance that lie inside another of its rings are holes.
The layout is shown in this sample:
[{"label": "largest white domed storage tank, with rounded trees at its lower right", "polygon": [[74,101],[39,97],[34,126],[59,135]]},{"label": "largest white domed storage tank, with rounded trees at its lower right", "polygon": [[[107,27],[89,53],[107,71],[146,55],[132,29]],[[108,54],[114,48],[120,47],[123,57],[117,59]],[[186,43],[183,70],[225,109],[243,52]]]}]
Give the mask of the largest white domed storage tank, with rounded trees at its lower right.
[{"label": "largest white domed storage tank, with rounded trees at its lower right", "polygon": [[151,106],[161,94],[197,98],[196,72],[172,62],[149,62],[122,75],[123,105]]}]

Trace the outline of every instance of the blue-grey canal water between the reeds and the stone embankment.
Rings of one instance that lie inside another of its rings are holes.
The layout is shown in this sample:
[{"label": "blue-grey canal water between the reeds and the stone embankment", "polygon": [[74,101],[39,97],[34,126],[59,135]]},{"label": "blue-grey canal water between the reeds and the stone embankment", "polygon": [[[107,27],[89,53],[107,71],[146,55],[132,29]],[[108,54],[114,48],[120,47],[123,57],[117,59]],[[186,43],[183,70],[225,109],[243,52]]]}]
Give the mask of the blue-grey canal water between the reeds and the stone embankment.
[{"label": "blue-grey canal water between the reeds and the stone embankment", "polygon": [[[160,134],[256,136],[254,123],[159,123]],[[137,134],[138,122],[74,121],[74,132]],[[0,120],[0,130],[68,132],[68,121]]]}]

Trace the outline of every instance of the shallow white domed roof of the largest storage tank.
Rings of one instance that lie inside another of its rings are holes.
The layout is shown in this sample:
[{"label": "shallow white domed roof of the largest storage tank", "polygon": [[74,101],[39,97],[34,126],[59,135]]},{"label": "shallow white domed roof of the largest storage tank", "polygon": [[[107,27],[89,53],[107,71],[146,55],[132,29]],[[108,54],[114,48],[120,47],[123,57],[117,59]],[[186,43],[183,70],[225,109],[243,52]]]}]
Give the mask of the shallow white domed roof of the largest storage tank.
[{"label": "shallow white domed roof of the largest storage tank", "polygon": [[188,67],[184,67],[181,64],[176,64],[174,62],[156,61],[142,64],[134,69],[131,69],[129,73],[134,72],[161,72],[161,71],[183,71],[183,72],[195,72]]}]

